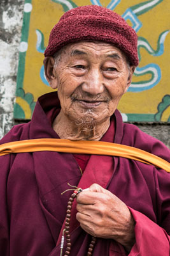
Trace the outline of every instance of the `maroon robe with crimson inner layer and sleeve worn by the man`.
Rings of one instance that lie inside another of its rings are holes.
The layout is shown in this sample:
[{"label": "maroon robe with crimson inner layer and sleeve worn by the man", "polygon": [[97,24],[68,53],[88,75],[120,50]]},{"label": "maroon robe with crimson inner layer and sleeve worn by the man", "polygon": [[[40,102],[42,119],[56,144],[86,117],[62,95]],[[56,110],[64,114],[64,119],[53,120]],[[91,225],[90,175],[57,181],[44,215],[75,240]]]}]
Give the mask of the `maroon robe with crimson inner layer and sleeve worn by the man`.
[{"label": "maroon robe with crimson inner layer and sleeve worn by the man", "polygon": [[[59,138],[52,129],[59,111],[56,92],[41,96],[31,122],[13,127],[1,143]],[[123,124],[118,111],[113,118],[115,143],[141,148],[169,161],[170,152],[163,143],[135,125]],[[113,129],[108,132],[106,141],[113,142]],[[67,182],[74,186],[80,182],[82,188],[96,182],[125,202],[136,221],[136,243],[130,256],[169,255],[170,174],[164,170],[124,157],[92,155],[81,177],[73,155],[58,152],[9,154],[0,157],[0,166],[0,255],[60,255],[56,243],[71,195],[71,191],[61,195]],[[70,255],[86,255],[90,239],[75,226]],[[114,240],[99,238],[92,255],[127,253]]]}]

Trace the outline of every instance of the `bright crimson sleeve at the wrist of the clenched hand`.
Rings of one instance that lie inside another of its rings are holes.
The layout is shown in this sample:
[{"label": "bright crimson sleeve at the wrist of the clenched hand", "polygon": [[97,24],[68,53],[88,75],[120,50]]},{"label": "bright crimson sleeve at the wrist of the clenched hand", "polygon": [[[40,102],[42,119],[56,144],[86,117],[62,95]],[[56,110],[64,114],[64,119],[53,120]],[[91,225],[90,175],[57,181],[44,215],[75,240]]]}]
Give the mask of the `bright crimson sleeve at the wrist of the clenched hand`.
[{"label": "bright crimson sleeve at the wrist of the clenched hand", "polygon": [[169,256],[170,236],[141,212],[129,208],[134,220],[136,243],[129,256]]}]

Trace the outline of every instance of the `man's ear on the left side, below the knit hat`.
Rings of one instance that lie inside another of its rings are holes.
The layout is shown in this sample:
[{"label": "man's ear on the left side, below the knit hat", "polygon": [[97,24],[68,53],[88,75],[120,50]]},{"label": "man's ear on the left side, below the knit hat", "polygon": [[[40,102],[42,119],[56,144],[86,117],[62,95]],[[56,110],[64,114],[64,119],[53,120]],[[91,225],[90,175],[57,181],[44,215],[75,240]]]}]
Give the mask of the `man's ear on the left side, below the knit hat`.
[{"label": "man's ear on the left side, below the knit hat", "polygon": [[45,57],[43,63],[45,68],[46,80],[50,84],[51,88],[56,89],[58,84],[54,68],[55,60],[53,59],[53,57]]}]

